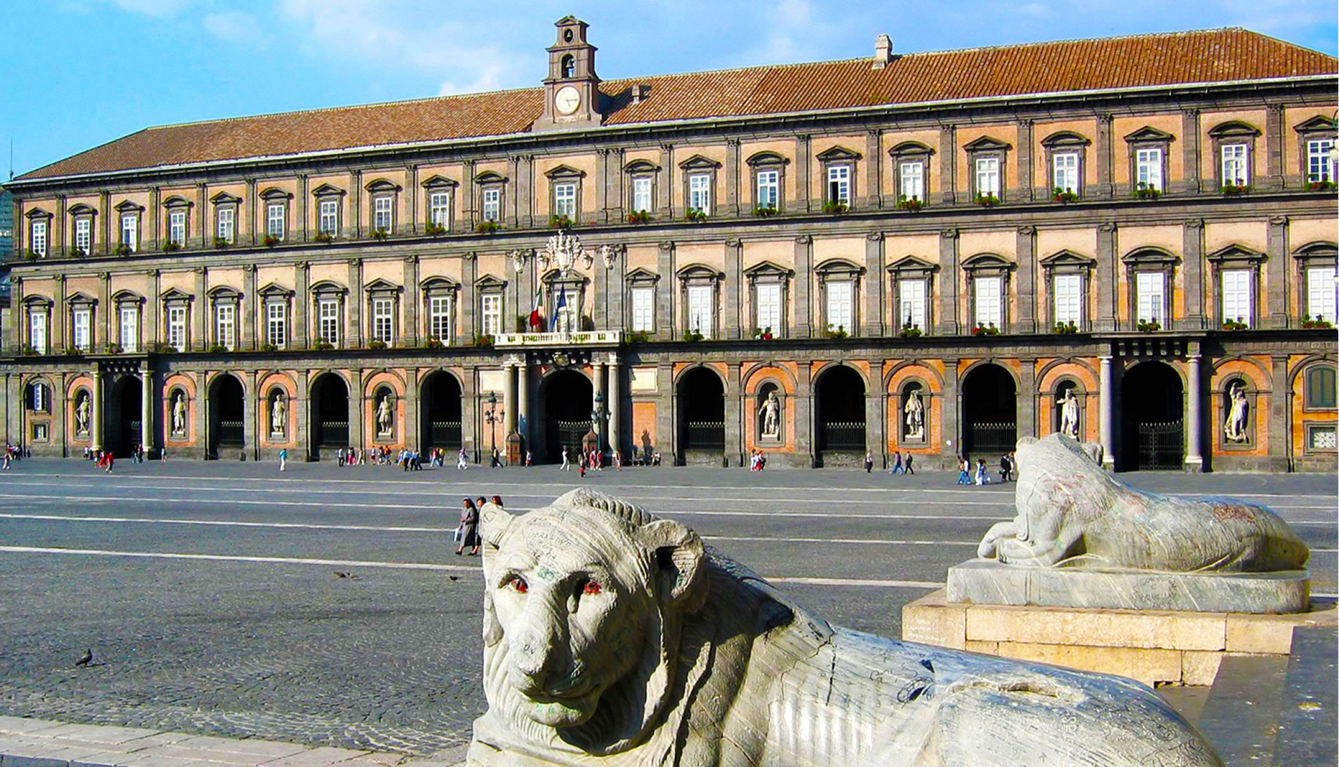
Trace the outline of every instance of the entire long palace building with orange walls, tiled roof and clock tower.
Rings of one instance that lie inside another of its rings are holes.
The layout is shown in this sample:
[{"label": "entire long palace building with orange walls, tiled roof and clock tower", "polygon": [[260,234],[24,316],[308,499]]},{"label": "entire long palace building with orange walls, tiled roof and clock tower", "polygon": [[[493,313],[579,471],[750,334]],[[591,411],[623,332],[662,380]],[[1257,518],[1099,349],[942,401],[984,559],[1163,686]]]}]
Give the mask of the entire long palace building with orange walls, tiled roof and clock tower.
[{"label": "entire long palace building with orange walls, tiled roof and clock tower", "polygon": [[27,173],[0,439],[1334,470],[1332,56],[1245,29],[147,129]]}]

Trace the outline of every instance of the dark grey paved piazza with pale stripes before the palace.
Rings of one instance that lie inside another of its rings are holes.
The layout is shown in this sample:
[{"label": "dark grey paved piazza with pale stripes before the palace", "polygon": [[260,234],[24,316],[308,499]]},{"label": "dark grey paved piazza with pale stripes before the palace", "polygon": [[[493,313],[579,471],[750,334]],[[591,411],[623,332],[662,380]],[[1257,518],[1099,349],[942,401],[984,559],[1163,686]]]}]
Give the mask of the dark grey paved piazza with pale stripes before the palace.
[{"label": "dark grey paved piazza with pale stripes before the palace", "polygon": [[[678,518],[828,620],[890,637],[901,606],[1012,515],[1012,486],[952,474],[605,470],[586,482]],[[1335,586],[1328,475],[1127,474],[1271,505]],[[430,754],[481,712],[478,560],[462,495],[525,510],[557,467],[29,459],[0,474],[0,713]],[[336,573],[347,573],[340,577]],[[86,648],[95,665],[74,668]]]}]

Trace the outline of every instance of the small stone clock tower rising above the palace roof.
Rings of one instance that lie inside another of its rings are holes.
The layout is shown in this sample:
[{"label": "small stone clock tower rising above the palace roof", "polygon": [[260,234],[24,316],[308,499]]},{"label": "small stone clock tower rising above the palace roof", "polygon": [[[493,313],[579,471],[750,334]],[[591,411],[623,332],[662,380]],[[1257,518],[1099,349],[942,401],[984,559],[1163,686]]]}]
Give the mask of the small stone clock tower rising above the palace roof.
[{"label": "small stone clock tower rising above the palace roof", "polygon": [[544,114],[530,130],[596,127],[600,78],[595,74],[595,46],[586,43],[586,23],[565,16],[554,24],[558,40],[549,47],[549,76],[544,79]]}]

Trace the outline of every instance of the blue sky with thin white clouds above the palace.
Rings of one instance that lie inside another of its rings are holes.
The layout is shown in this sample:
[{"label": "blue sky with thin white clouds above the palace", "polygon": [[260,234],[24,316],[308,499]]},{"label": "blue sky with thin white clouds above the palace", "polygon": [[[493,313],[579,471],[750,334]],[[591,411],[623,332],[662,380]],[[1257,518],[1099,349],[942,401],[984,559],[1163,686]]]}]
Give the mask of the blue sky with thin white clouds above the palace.
[{"label": "blue sky with thin white clouds above the palace", "polygon": [[[1241,25],[1334,55],[1334,0],[3,0],[16,173],[151,124],[537,86],[553,21],[605,78]],[[5,158],[7,159],[7,158]],[[0,179],[4,177],[0,175]]]}]

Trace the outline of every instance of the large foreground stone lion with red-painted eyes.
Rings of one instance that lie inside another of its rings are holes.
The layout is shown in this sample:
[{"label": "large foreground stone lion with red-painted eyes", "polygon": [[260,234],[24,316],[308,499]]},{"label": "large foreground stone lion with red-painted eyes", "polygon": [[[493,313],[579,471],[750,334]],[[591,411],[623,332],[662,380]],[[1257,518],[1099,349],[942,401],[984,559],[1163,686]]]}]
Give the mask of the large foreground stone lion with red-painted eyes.
[{"label": "large foreground stone lion with red-painted eyes", "polygon": [[470,764],[1221,767],[1135,681],[834,628],[612,497],[481,517]]}]

